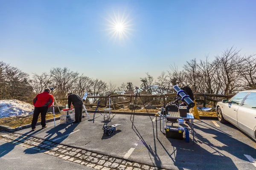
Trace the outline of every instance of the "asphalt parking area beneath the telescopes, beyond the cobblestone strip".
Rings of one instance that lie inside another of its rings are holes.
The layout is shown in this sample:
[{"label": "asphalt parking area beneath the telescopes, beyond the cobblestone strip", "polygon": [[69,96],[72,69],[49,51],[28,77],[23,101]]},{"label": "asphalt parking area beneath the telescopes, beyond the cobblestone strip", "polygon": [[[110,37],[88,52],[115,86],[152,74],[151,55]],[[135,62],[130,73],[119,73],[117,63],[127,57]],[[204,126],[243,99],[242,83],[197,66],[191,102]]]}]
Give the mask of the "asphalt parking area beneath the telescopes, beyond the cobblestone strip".
[{"label": "asphalt parking area beneath the telescopes, beyond the cobblestone strip", "polygon": [[[256,169],[244,156],[256,158],[256,142],[230,124],[195,120],[195,143],[191,134],[190,142],[186,143],[166,138],[159,122],[156,127],[149,116],[135,116],[132,127],[130,115],[116,114],[111,121],[104,121],[97,113],[94,123],[93,113],[89,115],[90,119],[83,119],[79,124],[60,125],[57,121],[54,127],[53,122],[49,122],[46,129],[38,126],[34,132],[24,129],[16,133],[166,169]],[[102,126],[106,124],[121,126],[116,127],[114,135],[105,136]]]}]

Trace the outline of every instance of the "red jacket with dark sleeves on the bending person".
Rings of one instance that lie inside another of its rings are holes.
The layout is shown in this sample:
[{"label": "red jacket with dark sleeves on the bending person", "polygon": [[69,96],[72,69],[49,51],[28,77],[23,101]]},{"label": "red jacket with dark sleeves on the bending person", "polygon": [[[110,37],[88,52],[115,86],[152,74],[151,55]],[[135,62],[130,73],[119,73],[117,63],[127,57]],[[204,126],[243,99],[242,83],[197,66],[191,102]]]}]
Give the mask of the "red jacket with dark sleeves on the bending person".
[{"label": "red jacket with dark sleeves on the bending person", "polygon": [[46,91],[36,95],[35,99],[33,99],[33,105],[36,108],[43,107],[43,106],[47,106],[49,108],[52,105],[52,103],[53,103],[53,96],[52,94],[49,94]]}]

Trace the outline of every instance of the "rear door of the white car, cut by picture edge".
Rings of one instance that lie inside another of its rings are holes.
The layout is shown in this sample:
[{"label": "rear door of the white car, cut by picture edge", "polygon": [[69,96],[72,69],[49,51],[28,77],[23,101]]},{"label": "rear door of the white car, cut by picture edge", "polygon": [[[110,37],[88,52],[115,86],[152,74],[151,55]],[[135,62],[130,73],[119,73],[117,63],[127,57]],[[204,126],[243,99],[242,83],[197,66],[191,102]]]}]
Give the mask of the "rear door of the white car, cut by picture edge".
[{"label": "rear door of the white car, cut by picture edge", "polygon": [[254,127],[256,126],[256,93],[251,92],[237,112],[237,123],[239,129],[254,138]]}]

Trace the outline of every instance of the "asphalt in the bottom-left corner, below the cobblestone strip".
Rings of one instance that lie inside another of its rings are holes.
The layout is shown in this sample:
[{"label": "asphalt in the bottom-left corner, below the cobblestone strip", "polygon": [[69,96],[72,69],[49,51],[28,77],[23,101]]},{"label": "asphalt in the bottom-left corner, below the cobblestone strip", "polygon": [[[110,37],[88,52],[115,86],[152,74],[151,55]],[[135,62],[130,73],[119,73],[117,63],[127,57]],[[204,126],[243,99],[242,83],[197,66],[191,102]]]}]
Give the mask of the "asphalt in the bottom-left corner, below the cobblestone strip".
[{"label": "asphalt in the bottom-left corner, below the cobblestone strip", "polygon": [[1,170],[93,170],[25,147],[0,140]]}]

